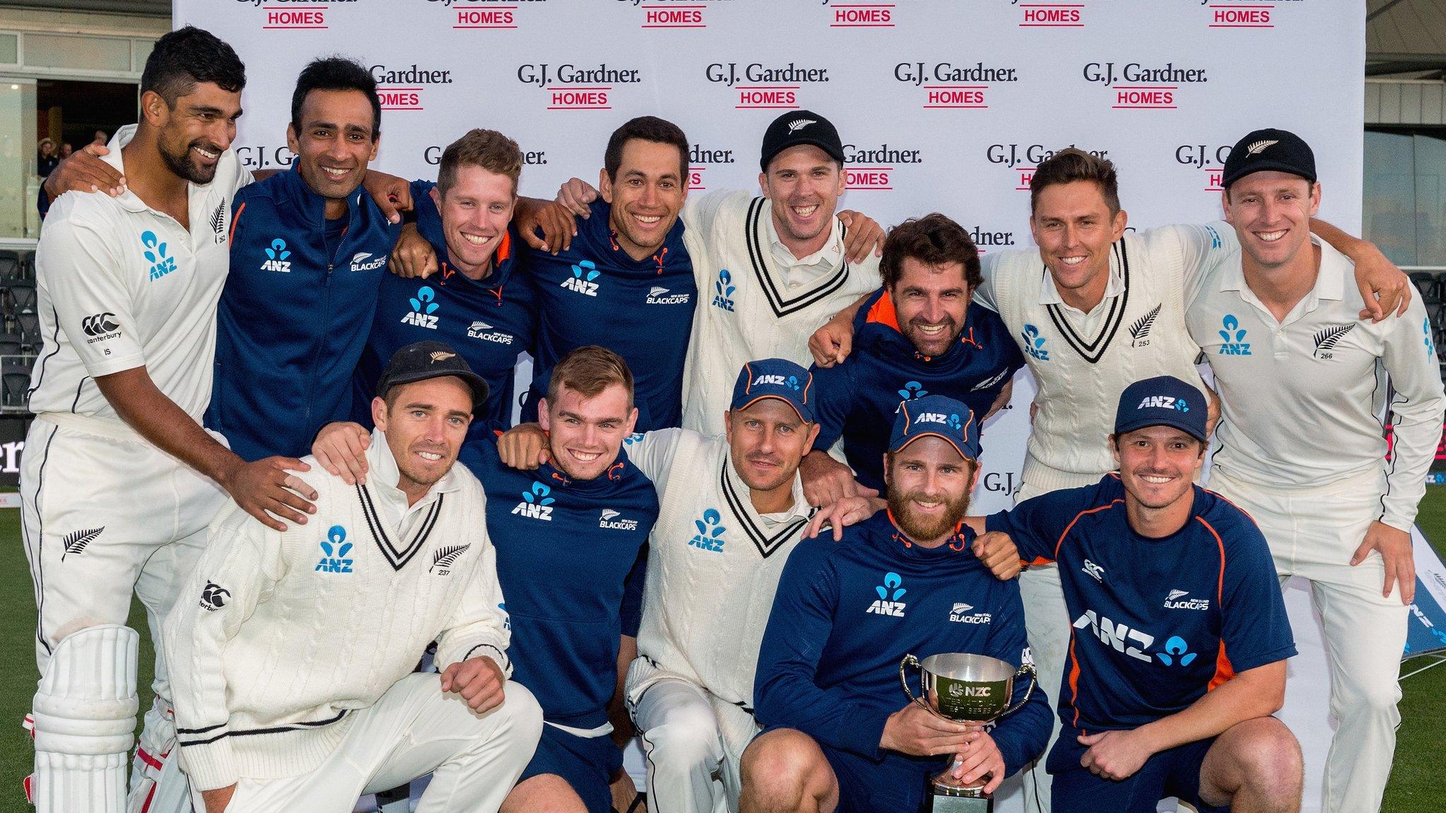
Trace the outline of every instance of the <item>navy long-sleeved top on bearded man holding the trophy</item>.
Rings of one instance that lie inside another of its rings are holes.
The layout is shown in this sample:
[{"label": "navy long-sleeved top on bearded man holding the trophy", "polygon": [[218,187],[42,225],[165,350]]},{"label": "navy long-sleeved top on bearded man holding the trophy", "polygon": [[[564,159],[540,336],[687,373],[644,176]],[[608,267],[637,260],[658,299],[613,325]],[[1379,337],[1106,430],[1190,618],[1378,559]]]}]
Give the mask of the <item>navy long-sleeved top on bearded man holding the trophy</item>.
[{"label": "navy long-sleeved top on bearded man holding the trophy", "polygon": [[[904,655],[975,652],[1015,667],[1024,657],[1019,586],[989,573],[969,547],[973,537],[963,527],[949,544],[921,548],[879,512],[844,528],[842,542],[829,535],[798,542],[759,650],[759,722],[798,729],[891,775],[944,770],[949,757],[886,752],[879,738],[889,715],[908,702],[899,686]],[[911,684],[917,694],[917,681]],[[1027,684],[1015,681],[1011,702],[1024,697]],[[992,732],[1008,774],[1038,757],[1050,738],[1041,689]]]}]

